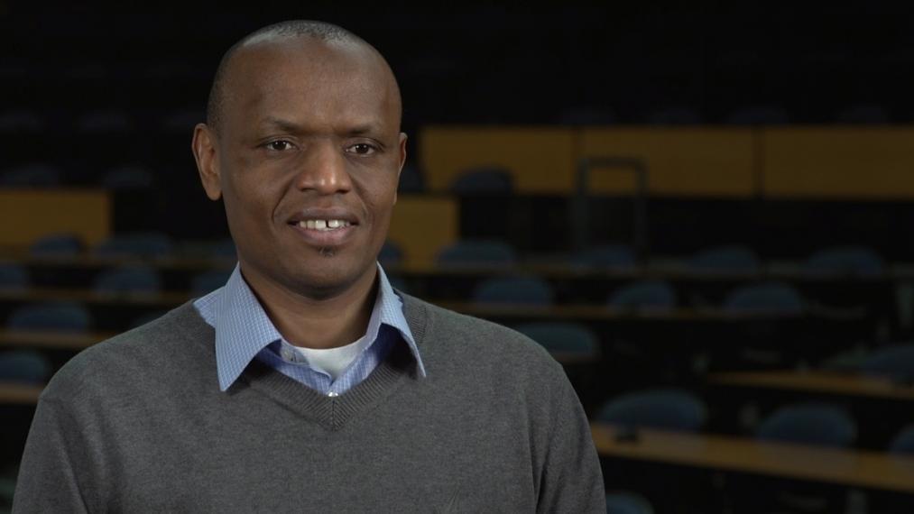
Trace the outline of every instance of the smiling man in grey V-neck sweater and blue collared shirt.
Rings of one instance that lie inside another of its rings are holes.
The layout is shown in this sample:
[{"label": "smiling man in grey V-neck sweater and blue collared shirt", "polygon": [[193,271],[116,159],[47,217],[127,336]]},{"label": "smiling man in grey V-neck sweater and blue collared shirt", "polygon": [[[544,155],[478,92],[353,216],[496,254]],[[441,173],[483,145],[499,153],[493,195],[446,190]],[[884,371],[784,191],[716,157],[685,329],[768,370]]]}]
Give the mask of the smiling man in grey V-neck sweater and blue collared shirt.
[{"label": "smiling man in grey V-neck sweater and blue collared shirt", "polygon": [[406,135],[387,63],[293,21],[230,48],[193,150],[239,267],[42,394],[16,512],[598,512],[561,367],[377,265]]}]

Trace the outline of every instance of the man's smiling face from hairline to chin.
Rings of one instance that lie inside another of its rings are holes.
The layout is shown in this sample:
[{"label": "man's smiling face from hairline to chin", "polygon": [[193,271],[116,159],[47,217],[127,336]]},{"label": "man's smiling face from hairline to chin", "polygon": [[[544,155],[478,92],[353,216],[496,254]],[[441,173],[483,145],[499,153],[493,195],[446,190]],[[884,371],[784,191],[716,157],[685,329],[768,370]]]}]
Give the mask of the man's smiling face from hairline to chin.
[{"label": "man's smiling face from hairline to chin", "polygon": [[233,59],[210,137],[245,277],[310,298],[373,280],[406,156],[386,65],[310,39]]}]

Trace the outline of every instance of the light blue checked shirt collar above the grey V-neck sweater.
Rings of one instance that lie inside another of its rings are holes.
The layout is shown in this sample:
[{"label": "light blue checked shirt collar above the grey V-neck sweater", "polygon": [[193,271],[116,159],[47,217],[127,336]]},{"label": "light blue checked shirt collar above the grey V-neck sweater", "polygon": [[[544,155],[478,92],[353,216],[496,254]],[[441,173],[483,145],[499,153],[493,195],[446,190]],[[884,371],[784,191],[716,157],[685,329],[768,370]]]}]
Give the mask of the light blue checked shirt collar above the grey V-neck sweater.
[{"label": "light blue checked shirt collar above the grey V-neck sweater", "polygon": [[424,377],[425,366],[419,347],[403,315],[403,300],[390,287],[380,264],[377,265],[377,281],[375,306],[365,334],[370,342],[339,378],[333,380],[328,373],[311,368],[276,330],[241,276],[240,267],[236,266],[225,286],[194,302],[200,316],[216,330],[219,388],[227,390],[248,364],[257,359],[320,393],[337,396],[365,380],[384,359],[390,347],[399,341],[409,346],[416,359],[417,370]]}]

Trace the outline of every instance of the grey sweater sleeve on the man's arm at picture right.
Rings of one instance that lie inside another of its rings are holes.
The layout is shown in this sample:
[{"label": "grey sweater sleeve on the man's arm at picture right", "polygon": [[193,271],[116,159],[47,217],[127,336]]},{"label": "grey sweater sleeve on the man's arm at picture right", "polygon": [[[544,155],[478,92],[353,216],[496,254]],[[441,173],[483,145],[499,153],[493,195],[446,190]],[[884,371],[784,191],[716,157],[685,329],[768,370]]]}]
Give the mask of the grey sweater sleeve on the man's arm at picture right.
[{"label": "grey sweater sleeve on the man's arm at picture right", "polygon": [[606,512],[600,458],[587,415],[564,372],[557,382],[537,512]]}]

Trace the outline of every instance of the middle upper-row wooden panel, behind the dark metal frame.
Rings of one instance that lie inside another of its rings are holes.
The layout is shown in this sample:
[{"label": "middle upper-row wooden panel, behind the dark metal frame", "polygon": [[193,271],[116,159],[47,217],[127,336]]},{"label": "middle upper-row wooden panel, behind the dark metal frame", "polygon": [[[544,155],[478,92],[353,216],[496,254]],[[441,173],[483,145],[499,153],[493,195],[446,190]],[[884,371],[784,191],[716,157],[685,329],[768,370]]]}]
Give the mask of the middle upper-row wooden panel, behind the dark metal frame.
[{"label": "middle upper-row wooden panel, behind the dark metal frame", "polygon": [[[581,133],[580,155],[642,159],[652,194],[749,196],[756,187],[749,129],[593,128]],[[628,194],[632,173],[594,173],[593,191]]]}]

